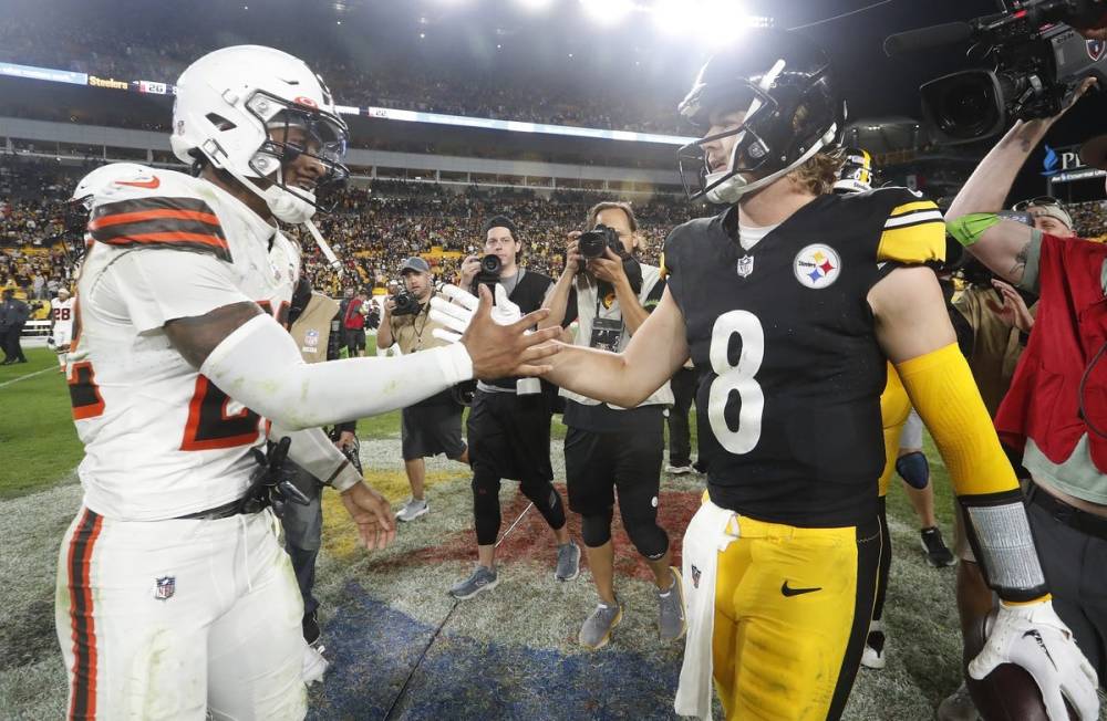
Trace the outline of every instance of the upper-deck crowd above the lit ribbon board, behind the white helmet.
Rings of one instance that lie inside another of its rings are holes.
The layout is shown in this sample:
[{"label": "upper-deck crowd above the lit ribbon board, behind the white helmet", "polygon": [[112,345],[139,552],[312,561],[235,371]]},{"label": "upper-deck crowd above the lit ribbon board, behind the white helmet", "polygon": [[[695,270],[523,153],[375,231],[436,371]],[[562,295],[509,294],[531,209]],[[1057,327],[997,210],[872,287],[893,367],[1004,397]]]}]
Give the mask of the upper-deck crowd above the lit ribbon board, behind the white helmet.
[{"label": "upper-deck crowd above the lit ribbon board, behind the white helmet", "polygon": [[[225,39],[214,33],[182,35],[177,29],[134,28],[112,19],[75,18],[35,8],[33,19],[12,13],[0,27],[0,61],[87,73],[99,77],[172,82],[195,58],[214,50]],[[49,24],[49,29],[44,28]],[[242,42],[256,28],[236,29]],[[53,42],[35,42],[49,34]],[[603,87],[582,87],[547,75],[498,63],[483,73],[411,55],[374,62],[354,62],[313,44],[302,48],[302,36],[267,44],[301,54],[331,83],[338,102],[359,107],[376,106],[493,119],[575,125],[644,133],[676,133],[673,113],[679,97],[635,93],[624,87],[618,95]],[[643,119],[645,118],[645,119]],[[147,127],[146,129],[162,129]]]}]

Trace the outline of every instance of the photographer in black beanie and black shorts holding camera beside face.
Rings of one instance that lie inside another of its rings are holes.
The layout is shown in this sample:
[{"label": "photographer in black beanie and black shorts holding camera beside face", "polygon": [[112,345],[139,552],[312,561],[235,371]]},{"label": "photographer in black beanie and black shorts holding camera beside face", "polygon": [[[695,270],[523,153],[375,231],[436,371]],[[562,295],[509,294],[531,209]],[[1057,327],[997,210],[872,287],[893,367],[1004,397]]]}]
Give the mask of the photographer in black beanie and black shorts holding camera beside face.
[{"label": "photographer in black beanie and black shorts holding camera beside face", "polygon": [[[484,232],[485,257],[465,259],[462,288],[476,293],[477,285],[495,285],[497,305],[510,303],[524,314],[541,307],[552,292],[554,281],[519,267],[523,241],[515,223],[495,216],[485,222]],[[554,530],[558,545],[555,577],[570,581],[580,573],[580,547],[569,540],[561,494],[551,482],[550,415],[550,398],[537,382],[506,378],[477,383],[466,436],[473,466],[478,562],[468,578],[449,589],[455,598],[472,598],[499,583],[495,544],[500,526],[499,483],[504,478],[519,481],[523,493]]]}]

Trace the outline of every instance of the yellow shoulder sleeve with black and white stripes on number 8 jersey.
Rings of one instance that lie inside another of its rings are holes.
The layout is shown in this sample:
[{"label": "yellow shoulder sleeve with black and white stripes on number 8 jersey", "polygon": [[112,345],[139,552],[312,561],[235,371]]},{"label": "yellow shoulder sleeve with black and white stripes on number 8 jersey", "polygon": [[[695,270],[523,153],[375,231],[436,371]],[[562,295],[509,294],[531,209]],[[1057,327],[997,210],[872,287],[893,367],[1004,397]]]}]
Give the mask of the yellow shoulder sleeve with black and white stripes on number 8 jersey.
[{"label": "yellow shoulder sleeve with black and white stripes on number 8 jersey", "polygon": [[945,221],[933,200],[908,188],[873,190],[871,202],[882,205],[884,227],[877,247],[878,261],[938,263],[945,260]]}]

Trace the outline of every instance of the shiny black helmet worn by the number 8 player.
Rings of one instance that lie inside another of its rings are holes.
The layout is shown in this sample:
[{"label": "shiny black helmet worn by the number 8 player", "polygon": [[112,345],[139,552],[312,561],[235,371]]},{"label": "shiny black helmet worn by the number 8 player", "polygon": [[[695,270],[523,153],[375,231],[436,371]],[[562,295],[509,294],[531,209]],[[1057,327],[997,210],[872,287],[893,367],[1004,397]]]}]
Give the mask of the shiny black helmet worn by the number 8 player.
[{"label": "shiny black helmet worn by the number 8 player", "polygon": [[[707,61],[677,109],[704,130],[713,113],[746,113],[738,127],[677,153],[689,198],[721,205],[737,202],[837,145],[846,126],[846,104],[829,58],[803,35],[783,30],[751,29],[739,35]],[[713,173],[704,145],[730,136],[736,139],[727,167]]]}]

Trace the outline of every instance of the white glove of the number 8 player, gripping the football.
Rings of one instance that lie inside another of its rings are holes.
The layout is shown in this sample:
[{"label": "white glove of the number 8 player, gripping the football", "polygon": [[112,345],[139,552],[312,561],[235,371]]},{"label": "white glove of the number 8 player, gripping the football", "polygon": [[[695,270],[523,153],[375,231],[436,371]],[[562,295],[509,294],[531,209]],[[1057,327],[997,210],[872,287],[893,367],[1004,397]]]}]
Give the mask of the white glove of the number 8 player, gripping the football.
[{"label": "white glove of the number 8 player, gripping the football", "polygon": [[1000,604],[983,650],[969,663],[969,676],[983,679],[1001,663],[1022,667],[1034,678],[1051,721],[1067,721],[1065,699],[1082,721],[1099,718],[1096,671],[1051,602]]}]

